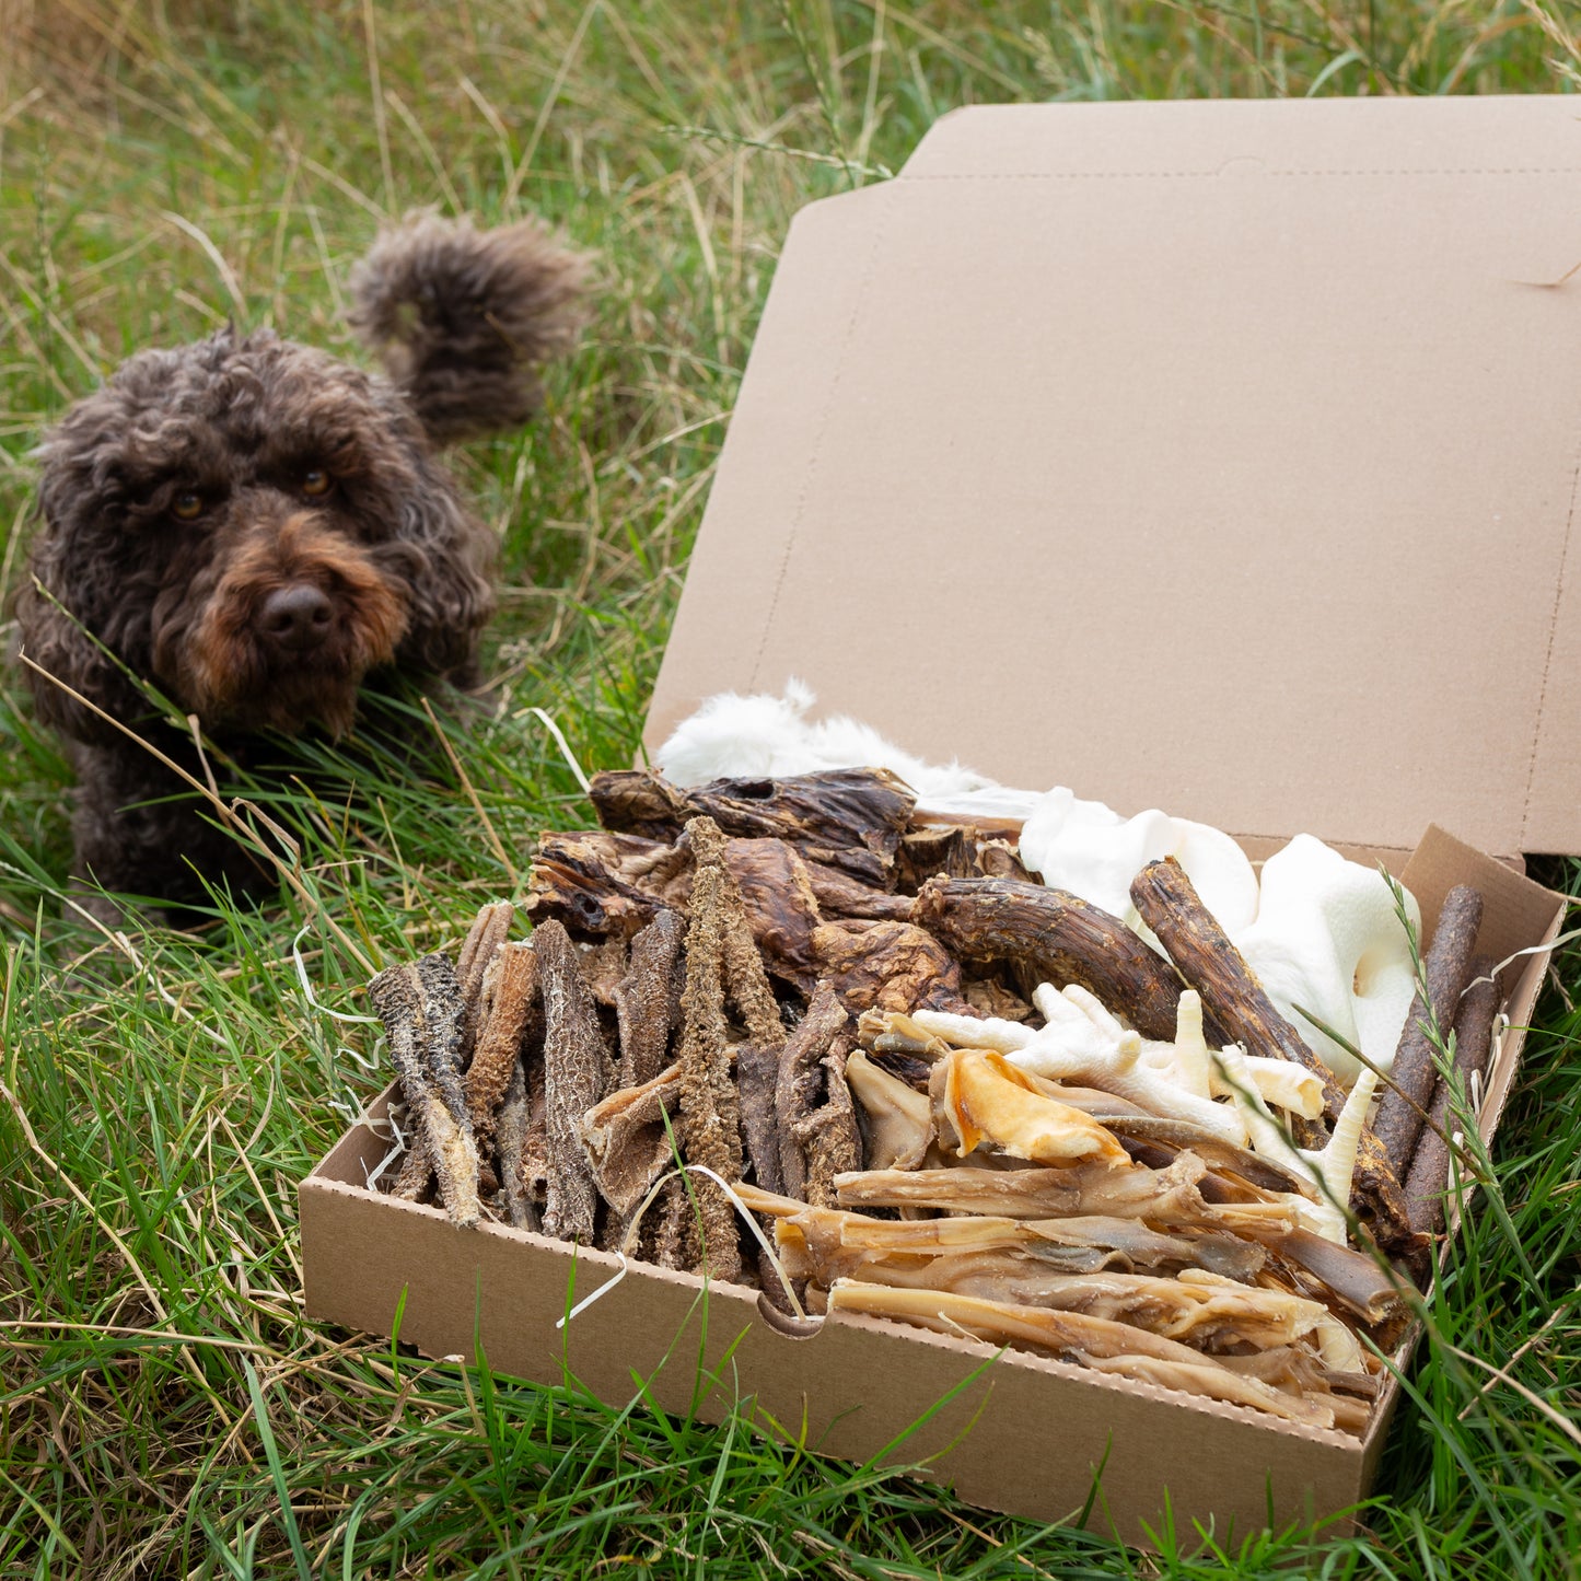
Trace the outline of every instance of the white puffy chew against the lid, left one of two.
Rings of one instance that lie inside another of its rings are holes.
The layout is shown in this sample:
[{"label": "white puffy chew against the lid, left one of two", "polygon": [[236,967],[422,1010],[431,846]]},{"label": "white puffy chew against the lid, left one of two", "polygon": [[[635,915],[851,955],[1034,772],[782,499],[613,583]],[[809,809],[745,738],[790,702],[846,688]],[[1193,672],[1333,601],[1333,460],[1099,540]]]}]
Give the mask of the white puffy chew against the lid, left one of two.
[{"label": "white puffy chew against the lid, left one of two", "polygon": [[1121,817],[1102,802],[1081,802],[1058,786],[1021,828],[1021,862],[1051,889],[1069,890],[1119,917],[1157,949],[1130,904],[1130,881],[1160,857],[1175,857],[1225,933],[1257,915],[1257,874],[1225,833],[1156,808]]}]

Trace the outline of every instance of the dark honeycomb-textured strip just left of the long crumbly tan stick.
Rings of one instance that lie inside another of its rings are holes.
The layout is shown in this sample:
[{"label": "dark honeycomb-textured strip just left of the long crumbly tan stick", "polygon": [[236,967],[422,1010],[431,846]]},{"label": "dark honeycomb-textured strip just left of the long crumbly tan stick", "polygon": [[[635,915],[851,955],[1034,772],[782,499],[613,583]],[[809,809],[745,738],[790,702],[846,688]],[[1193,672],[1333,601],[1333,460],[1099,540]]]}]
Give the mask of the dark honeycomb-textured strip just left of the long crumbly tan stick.
[{"label": "dark honeycomb-textured strip just left of the long crumbly tan stick", "polygon": [[609,1050],[598,1007],[582,977],[575,945],[558,922],[533,933],[544,994],[544,1104],[549,1134],[549,1202],[544,1233],[593,1241],[598,1189],[577,1137],[577,1123],[604,1096]]}]

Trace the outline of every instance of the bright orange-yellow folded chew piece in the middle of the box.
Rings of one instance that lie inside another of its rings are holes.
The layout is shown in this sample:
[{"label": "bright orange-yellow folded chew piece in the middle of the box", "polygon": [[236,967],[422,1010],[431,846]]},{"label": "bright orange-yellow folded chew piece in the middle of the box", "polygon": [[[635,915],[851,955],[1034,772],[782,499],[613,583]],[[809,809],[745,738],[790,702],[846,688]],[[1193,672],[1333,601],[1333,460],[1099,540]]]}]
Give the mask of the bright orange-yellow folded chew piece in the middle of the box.
[{"label": "bright orange-yellow folded chew piece in the middle of the box", "polygon": [[1113,1132],[1045,1097],[1002,1055],[952,1050],[933,1067],[930,1097],[934,1137],[955,1157],[988,1143],[996,1153],[1056,1168],[1089,1162],[1130,1167]]}]

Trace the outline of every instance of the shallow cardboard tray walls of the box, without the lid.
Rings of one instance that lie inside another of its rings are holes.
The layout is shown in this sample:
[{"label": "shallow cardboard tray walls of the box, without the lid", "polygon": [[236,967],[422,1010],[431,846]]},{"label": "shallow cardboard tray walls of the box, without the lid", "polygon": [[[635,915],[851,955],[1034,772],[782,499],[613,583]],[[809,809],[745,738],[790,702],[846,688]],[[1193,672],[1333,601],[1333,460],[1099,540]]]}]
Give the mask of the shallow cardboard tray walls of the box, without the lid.
[{"label": "shallow cardboard tray walls of the box, without the lid", "polygon": [[[1500,958],[1551,941],[1567,904],[1439,828],[1423,838],[1406,881],[1429,926],[1453,884],[1483,889],[1478,942]],[[1535,955],[1516,972],[1513,1024],[1485,1104],[1489,1135],[1545,969],[1546,957]],[[705,1289],[650,1265],[632,1265],[557,1330],[575,1300],[618,1273],[618,1260],[504,1225],[457,1230],[435,1208],[368,1190],[365,1170],[389,1148],[370,1126],[391,1091],[299,1189],[313,1319],[391,1334],[400,1312],[398,1338],[425,1355],[485,1360],[617,1407],[645,1394],[659,1409],[716,1421],[751,1399],[760,1426],[809,1450],[903,1466],[952,1483],[969,1504],[1031,1519],[1078,1515],[1099,1477],[1088,1524],[1129,1543],[1148,1543],[1165,1497],[1178,1530],[1200,1523],[1219,1540],[1265,1524],[1345,1521],[1377,1472],[1393,1383],[1358,1440],[874,1319],[840,1315],[814,1339],[794,1341],[757,1317],[754,1292]],[[1399,1368],[1413,1342],[1396,1355]]]}]

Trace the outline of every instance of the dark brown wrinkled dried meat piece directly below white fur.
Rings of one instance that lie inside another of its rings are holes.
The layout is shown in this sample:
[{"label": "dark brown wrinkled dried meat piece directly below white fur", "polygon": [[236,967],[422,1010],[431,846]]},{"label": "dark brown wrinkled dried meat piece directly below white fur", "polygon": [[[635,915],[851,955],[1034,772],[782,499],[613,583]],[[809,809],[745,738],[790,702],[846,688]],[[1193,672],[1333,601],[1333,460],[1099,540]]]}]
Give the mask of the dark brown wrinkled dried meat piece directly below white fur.
[{"label": "dark brown wrinkled dried meat piece directly below white fur", "polygon": [[789,840],[809,862],[893,887],[895,852],[915,795],[885,768],[836,768],[786,779],[715,779],[683,790],[645,770],[593,776],[588,790],[606,828],[674,840],[692,817],[726,835]]}]

